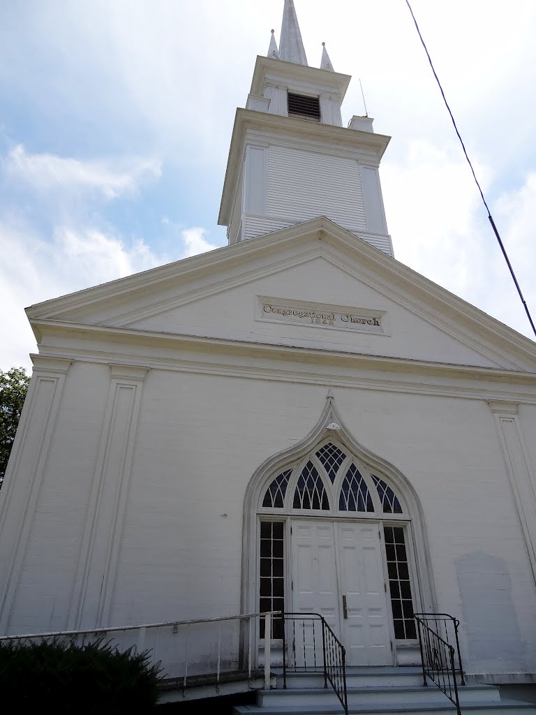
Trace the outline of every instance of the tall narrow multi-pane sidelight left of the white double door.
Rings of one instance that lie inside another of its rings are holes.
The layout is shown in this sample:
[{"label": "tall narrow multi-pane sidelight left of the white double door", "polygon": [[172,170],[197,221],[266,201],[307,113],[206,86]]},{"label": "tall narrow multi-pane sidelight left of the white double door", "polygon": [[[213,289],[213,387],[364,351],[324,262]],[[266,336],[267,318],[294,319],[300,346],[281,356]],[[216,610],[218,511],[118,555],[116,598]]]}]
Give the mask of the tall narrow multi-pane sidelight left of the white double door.
[{"label": "tall narrow multi-pane sidelight left of the white double door", "polygon": [[[291,470],[292,471],[292,470]],[[284,523],[261,522],[259,611],[284,611]],[[264,618],[259,618],[259,636],[264,638]],[[272,638],[283,637],[281,616],[272,618]]]}]

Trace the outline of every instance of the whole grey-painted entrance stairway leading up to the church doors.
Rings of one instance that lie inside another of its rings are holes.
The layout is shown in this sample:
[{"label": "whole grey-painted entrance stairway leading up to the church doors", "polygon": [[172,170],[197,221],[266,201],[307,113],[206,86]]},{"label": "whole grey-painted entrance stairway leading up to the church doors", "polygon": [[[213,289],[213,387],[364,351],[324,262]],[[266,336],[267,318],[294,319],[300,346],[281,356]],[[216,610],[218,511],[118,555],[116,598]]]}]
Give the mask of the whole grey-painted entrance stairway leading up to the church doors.
[{"label": "whole grey-painted entrance stairway leading up to the church doors", "polygon": [[[277,687],[257,692],[257,704],[237,706],[234,715],[339,715],[344,712],[324,676],[315,673],[287,674],[272,669]],[[417,667],[347,668],[349,714],[356,715],[452,715],[456,708],[434,684],[422,685]],[[459,687],[460,709],[467,715],[536,715],[536,705],[505,700],[497,686],[470,684]]]}]

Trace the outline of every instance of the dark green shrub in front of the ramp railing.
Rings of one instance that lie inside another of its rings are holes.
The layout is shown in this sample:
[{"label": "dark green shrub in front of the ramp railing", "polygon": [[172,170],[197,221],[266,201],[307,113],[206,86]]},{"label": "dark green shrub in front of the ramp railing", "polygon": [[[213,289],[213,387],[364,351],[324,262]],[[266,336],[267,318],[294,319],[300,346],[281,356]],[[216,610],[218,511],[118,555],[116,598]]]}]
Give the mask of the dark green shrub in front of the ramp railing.
[{"label": "dark green shrub in front of the ramp railing", "polygon": [[149,651],[119,652],[103,638],[75,646],[59,638],[0,641],[0,700],[5,713],[145,713],[154,709],[158,665]]}]

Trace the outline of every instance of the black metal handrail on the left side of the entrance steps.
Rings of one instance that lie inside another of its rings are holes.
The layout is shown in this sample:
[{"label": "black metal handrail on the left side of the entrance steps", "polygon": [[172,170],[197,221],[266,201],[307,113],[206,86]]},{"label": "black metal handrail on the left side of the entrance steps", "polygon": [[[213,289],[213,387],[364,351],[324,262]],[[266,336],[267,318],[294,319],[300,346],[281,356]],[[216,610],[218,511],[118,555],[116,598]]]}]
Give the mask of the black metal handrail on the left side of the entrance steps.
[{"label": "black metal handrail on the left side of the entrance steps", "polygon": [[339,638],[319,613],[283,613],[282,617],[283,687],[287,687],[287,672],[323,673],[324,688],[329,682],[348,715],[346,650]]}]

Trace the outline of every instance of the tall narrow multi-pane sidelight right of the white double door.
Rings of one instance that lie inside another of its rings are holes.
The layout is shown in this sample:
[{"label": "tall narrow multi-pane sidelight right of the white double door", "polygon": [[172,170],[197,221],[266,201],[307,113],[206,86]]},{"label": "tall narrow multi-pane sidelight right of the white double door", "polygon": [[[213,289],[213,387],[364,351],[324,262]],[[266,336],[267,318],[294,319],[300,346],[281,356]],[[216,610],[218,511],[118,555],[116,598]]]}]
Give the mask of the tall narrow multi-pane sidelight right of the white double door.
[{"label": "tall narrow multi-pane sidelight right of the white double door", "polygon": [[384,526],[385,553],[387,572],[389,573],[389,591],[394,624],[394,637],[417,638],[413,619],[412,590],[410,570],[407,565],[407,552],[402,526]]}]

